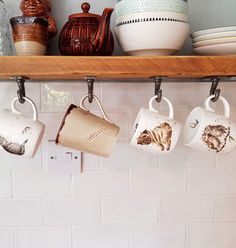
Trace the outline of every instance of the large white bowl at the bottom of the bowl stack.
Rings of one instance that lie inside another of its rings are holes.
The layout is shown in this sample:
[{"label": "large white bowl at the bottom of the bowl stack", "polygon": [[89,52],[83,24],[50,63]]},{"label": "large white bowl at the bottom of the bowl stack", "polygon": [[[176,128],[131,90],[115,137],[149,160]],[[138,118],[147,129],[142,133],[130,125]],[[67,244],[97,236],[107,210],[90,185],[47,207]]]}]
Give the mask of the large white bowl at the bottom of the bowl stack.
[{"label": "large white bowl at the bottom of the bowl stack", "polygon": [[188,23],[174,20],[148,20],[115,27],[119,45],[133,56],[171,55],[181,49],[188,32]]}]

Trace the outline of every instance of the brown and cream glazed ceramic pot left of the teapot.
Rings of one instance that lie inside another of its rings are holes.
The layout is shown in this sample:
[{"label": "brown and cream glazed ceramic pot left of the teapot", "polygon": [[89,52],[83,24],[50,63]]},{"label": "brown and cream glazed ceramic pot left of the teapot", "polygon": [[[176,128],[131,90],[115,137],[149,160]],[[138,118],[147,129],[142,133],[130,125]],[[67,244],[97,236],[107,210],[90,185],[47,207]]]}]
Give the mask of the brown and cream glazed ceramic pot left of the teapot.
[{"label": "brown and cream glazed ceramic pot left of the teapot", "polygon": [[10,19],[17,55],[44,55],[48,42],[48,21],[41,17]]}]

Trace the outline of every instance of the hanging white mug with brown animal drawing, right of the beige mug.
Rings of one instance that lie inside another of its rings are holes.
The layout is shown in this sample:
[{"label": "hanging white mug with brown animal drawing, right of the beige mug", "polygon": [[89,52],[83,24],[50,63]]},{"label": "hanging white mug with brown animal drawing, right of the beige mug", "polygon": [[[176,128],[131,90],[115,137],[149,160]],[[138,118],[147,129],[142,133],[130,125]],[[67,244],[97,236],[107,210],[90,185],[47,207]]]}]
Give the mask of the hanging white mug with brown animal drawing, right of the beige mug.
[{"label": "hanging white mug with brown animal drawing, right of the beige mug", "polygon": [[154,96],[149,100],[149,109],[142,108],[139,111],[130,145],[155,154],[169,153],[178,141],[180,125],[174,120],[170,100],[162,97],[169,107],[169,114],[165,116],[160,115],[153,107],[156,98],[157,96]]}]

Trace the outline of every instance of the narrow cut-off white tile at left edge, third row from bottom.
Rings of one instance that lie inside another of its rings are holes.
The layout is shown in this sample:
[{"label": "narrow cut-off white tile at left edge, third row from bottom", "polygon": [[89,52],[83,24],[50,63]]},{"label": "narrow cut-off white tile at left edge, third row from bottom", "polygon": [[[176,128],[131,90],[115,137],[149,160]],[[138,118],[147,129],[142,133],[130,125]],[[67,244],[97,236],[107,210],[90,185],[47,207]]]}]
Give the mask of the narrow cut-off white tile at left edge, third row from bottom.
[{"label": "narrow cut-off white tile at left edge, third row from bottom", "polygon": [[0,171],[0,198],[12,196],[11,173]]}]

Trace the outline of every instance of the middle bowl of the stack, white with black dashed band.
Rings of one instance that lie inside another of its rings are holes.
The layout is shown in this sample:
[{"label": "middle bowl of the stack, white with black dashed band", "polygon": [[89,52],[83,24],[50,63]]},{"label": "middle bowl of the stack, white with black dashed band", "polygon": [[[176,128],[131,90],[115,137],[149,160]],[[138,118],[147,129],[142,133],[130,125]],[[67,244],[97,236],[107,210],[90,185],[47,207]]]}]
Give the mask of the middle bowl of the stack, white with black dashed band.
[{"label": "middle bowl of the stack, white with black dashed band", "polygon": [[148,21],[179,21],[179,22],[188,23],[188,16],[176,12],[167,12],[167,11],[134,13],[134,14],[117,17],[116,26],[130,24],[134,22],[148,22]]}]

